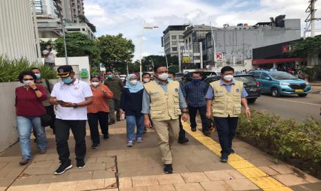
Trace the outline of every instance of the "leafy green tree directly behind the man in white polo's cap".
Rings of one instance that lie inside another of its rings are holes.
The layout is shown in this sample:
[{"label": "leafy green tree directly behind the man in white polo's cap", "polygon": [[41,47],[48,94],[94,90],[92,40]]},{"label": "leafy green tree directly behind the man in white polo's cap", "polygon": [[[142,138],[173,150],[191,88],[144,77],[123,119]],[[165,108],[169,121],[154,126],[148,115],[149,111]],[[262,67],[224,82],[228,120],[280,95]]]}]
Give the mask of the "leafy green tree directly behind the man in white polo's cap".
[{"label": "leafy green tree directly behind the man in white polo's cap", "polygon": [[[55,49],[57,50],[57,57],[64,57],[64,39],[59,37],[55,41]],[[99,48],[95,40],[90,39],[88,35],[83,33],[66,33],[66,45],[68,56],[88,56],[90,65],[95,66],[99,64]]]}]

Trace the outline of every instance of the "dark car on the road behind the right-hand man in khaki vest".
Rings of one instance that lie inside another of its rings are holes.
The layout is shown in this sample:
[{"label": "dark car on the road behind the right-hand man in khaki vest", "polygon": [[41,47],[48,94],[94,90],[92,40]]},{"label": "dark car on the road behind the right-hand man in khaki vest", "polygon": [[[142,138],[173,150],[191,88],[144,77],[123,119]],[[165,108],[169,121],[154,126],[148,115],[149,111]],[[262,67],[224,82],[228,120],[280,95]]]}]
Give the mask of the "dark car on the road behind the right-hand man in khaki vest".
[{"label": "dark car on the road behind the right-hand man in khaki vest", "polygon": [[[220,75],[208,77],[204,80],[204,82],[210,84],[211,82],[215,82],[217,80],[221,80]],[[244,89],[249,94],[249,96],[246,97],[246,100],[248,100],[249,103],[254,103],[257,100],[257,98],[261,96],[260,82],[257,82],[253,75],[234,75],[234,80],[243,82]]]}]

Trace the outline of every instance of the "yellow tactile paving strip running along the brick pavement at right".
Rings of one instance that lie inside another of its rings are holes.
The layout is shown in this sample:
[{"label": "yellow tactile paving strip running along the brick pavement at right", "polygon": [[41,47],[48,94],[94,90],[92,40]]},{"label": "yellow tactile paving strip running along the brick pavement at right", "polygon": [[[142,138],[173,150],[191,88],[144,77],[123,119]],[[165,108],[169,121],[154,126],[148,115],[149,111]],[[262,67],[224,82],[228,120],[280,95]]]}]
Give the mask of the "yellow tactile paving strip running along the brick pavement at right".
[{"label": "yellow tactile paving strip running along the brick pavement at right", "polygon": [[[205,147],[210,149],[214,154],[220,156],[221,147],[220,144],[215,142],[212,138],[204,136],[201,131],[191,131],[191,127],[187,122],[183,122],[183,127],[185,131],[193,136],[196,140],[202,143]],[[246,161],[242,156],[237,154],[231,154],[228,156],[228,164],[235,168],[238,172],[243,174],[247,179],[255,183],[262,190],[280,190],[280,191],[289,191],[290,188],[286,187],[276,179],[271,176],[268,176],[265,172],[255,167],[249,161]]]}]

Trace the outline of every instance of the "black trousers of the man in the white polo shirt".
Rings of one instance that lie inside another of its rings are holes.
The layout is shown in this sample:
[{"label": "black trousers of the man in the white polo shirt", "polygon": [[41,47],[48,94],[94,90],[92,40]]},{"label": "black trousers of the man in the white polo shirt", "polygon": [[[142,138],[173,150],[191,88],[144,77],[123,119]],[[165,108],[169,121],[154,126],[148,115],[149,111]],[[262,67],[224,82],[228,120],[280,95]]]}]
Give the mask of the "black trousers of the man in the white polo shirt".
[{"label": "black trousers of the man in the white polo shirt", "polygon": [[84,161],[86,156],[86,120],[55,120],[56,145],[61,163],[70,163],[68,147],[69,131],[75,138],[75,154],[77,161]]}]

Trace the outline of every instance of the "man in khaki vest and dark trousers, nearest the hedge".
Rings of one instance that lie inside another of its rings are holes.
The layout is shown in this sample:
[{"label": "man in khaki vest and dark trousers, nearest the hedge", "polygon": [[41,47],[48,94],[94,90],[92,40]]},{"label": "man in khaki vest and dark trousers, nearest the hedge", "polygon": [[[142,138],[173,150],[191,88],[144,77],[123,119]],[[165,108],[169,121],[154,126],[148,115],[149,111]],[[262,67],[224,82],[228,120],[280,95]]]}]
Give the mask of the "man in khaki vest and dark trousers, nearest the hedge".
[{"label": "man in khaki vest and dark trousers, nearest the hedge", "polygon": [[215,127],[222,147],[221,162],[228,161],[228,155],[233,154],[232,140],[235,136],[238,117],[241,107],[245,108],[247,117],[251,111],[247,105],[246,90],[243,82],[233,80],[234,69],[224,66],[221,70],[221,79],[210,84],[206,93],[206,117],[214,117]]}]

